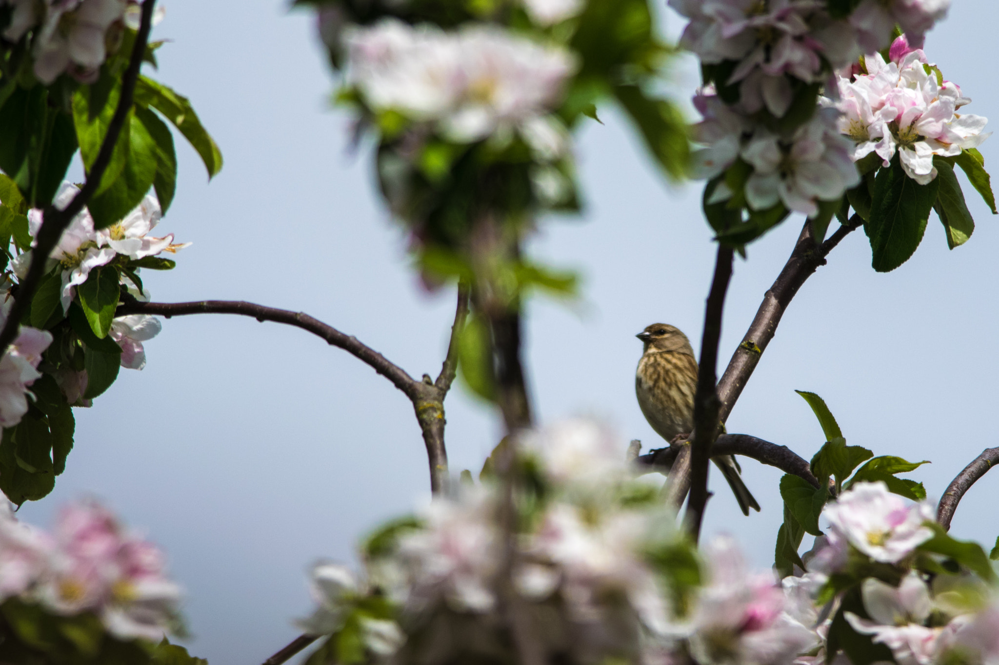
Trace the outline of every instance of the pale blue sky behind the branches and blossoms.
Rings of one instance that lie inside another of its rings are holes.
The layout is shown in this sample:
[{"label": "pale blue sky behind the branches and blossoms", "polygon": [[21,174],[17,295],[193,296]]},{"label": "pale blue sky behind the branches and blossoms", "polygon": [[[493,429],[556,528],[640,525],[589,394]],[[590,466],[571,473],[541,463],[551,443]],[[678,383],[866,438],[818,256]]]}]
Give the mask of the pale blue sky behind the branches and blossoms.
[{"label": "pale blue sky behind the branches and blossoms", "polygon": [[[161,228],[194,245],[172,273],[144,275],[154,298],[304,310],[414,376],[436,374],[453,294],[421,289],[405,239],[375,195],[369,155],[348,154],[347,119],[328,105],[334,82],[311,16],[289,15],[273,0],[174,2],[167,12],[155,36],[173,42],[160,51],[157,76],[192,99],[226,165],[207,184],[179,142],[177,198]],[[678,28],[675,16],[666,19]],[[999,115],[997,19],[992,2],[955,0],[927,42],[930,59],[974,100],[968,111],[987,117]],[[695,83],[686,64],[678,98]],[[696,348],[713,248],[699,184],[666,186],[619,116],[609,108],[600,116],[606,124],[589,124],[578,145],[584,214],[544,221],[531,242],[537,258],[584,278],[578,305],[529,306],[531,387],[542,420],[597,415],[647,449],[661,442],[635,403],[633,335],[664,321]],[[999,164],[991,141],[982,152],[987,166]],[[968,202],[978,227],[967,245],[948,251],[931,220],[915,256],[886,275],[870,268],[863,233],[849,236],[791,305],[729,431],[810,457],[821,431],[794,390],[812,390],[850,444],[933,461],[911,477],[934,498],[996,445],[999,218],[973,192]],[[800,223],[785,222],[737,261],[725,362]],[[429,496],[412,408],[366,365],[277,324],[184,317],[165,321],[146,348],[145,370],[122,370],[93,409],[77,410],[65,475],[21,515],[44,524],[65,500],[107,500],[167,550],[187,589],[192,651],[213,665],[262,662],[309,611],[311,561],[350,560],[359,534]],[[478,471],[497,421],[461,387],[447,408],[453,469]],[[706,529],[735,534],[766,566],[781,519],[780,474],[752,461],[743,471],[763,511],[743,517],[722,485]],[[999,476],[987,476],[962,502],[954,532],[991,544],[997,499]]]}]

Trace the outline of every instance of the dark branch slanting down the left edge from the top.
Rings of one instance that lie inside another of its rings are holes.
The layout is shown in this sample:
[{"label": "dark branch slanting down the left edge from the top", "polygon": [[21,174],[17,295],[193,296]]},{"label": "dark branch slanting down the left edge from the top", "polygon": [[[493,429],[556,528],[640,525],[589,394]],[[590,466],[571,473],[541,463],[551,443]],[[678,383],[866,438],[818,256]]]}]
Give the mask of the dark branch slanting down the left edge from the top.
[{"label": "dark branch slanting down the left edge from the top", "polygon": [[132,109],[132,98],[135,93],[135,82],[139,78],[139,70],[142,68],[142,58],[146,53],[146,43],[149,41],[149,31],[152,29],[153,5],[156,0],[145,0],[142,3],[142,18],[139,24],[139,34],[135,39],[135,46],[132,47],[132,56],[129,59],[128,68],[122,78],[122,91],[118,99],[118,106],[108,124],[108,133],[104,136],[104,142],[97,153],[97,159],[87,173],[87,180],[83,187],[73,196],[63,209],[54,205],[45,208],[42,215],[42,226],[38,229],[35,237],[35,247],[32,249],[31,264],[28,266],[28,274],[18,284],[17,293],[14,295],[14,304],[7,314],[3,329],[0,330],[0,357],[6,353],[7,347],[17,338],[18,328],[21,319],[28,309],[28,304],[35,297],[42,277],[45,276],[45,264],[49,259],[49,254],[59,242],[63,231],[69,226],[83,206],[97,192],[97,187],[101,183],[104,171],[111,164],[111,156],[114,154],[118,137],[125,127],[129,111]]}]

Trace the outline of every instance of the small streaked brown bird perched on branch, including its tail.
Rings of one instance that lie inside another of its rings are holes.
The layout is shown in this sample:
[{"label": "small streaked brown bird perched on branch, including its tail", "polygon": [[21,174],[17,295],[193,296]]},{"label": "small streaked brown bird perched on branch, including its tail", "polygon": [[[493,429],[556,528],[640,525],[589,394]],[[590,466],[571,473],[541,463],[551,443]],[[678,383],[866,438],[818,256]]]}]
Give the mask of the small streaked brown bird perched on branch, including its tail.
[{"label": "small streaked brown bird perched on branch, including its tail", "polygon": [[[693,430],[693,396],[697,390],[697,360],[686,335],[674,326],[653,323],[635,335],[643,345],[634,392],[645,420],[656,434],[671,442]],[[742,483],[738,463],[730,455],[711,458],[728,481],[744,514],[759,503]]]}]

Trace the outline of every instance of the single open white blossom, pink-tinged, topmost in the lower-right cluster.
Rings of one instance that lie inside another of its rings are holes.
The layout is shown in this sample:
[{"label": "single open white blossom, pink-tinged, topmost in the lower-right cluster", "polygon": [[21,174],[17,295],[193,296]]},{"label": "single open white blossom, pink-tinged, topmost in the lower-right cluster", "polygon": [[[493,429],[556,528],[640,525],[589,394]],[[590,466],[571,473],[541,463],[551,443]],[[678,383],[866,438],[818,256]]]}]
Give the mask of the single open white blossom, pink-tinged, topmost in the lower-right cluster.
[{"label": "single open white blossom, pink-tinged, topmost in the lower-right cluster", "polygon": [[880,481],[857,483],[822,510],[838,535],[884,563],[897,563],[933,537],[926,522],[934,515],[929,502],[907,503]]}]

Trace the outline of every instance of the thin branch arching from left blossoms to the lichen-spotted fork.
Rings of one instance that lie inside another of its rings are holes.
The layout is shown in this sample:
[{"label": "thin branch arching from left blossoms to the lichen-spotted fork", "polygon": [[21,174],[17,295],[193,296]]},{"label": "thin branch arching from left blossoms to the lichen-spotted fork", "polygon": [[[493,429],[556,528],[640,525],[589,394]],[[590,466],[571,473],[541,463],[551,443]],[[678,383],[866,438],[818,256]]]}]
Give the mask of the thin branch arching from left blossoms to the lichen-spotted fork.
[{"label": "thin branch arching from left blossoms to the lichen-spotted fork", "polygon": [[187,316],[189,314],[238,314],[253,317],[260,322],[284,323],[322,337],[328,344],[340,347],[352,354],[391,381],[411,400],[422,397],[418,387],[426,385],[411,377],[406,370],[390,362],[378,351],[363,344],[357,337],[342,333],[333,326],[304,312],[265,307],[243,300],[202,300],[200,302],[139,302],[136,300],[119,305],[115,312],[115,316],[128,314],[159,314],[168,319],[173,316]]}]

